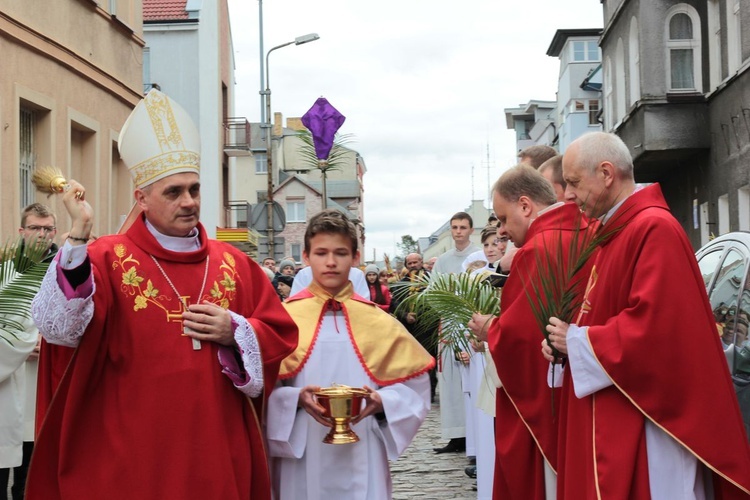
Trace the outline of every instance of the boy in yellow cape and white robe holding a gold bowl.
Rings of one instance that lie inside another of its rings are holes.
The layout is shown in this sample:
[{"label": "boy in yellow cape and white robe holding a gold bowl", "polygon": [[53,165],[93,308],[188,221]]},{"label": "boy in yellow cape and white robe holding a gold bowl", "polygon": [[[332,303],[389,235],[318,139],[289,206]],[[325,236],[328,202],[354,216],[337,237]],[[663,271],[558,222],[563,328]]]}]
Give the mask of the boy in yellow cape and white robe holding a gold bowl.
[{"label": "boy in yellow cape and white robe holding a gold bowl", "polygon": [[[315,215],[305,232],[313,282],[285,303],[300,338],[268,405],[278,500],[391,498],[388,460],[406,449],[430,407],[435,360],[395,318],[352,291],[357,243],[354,225],[336,210]],[[369,393],[353,420],[357,443],[323,443],[331,424],[314,393],[332,384]]]}]

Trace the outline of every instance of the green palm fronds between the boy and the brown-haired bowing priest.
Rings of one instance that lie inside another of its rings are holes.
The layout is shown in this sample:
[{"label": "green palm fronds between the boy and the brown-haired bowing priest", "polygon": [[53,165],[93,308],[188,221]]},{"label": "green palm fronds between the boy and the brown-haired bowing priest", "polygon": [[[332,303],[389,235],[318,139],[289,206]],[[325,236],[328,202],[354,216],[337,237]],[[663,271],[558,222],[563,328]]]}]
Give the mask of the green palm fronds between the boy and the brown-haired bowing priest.
[{"label": "green palm fronds between the boy and the brown-haired bowing priest", "polygon": [[[432,274],[391,285],[399,300],[396,314],[417,314],[416,330],[428,333],[435,344],[468,351],[474,338],[466,328],[474,313],[497,314],[498,289],[481,274]],[[437,325],[440,325],[437,328]]]}]

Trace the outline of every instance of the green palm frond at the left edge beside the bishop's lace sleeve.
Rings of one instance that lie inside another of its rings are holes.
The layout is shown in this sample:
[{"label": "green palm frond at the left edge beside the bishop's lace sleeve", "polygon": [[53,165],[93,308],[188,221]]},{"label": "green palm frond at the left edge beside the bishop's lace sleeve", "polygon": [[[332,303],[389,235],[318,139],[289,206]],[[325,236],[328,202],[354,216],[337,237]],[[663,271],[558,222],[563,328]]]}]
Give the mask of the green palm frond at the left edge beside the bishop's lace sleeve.
[{"label": "green palm frond at the left edge beside the bishop's lace sleeve", "polygon": [[0,340],[12,344],[22,333],[23,319],[31,317],[31,301],[41,286],[49,260],[44,240],[26,243],[22,238],[0,248]]}]

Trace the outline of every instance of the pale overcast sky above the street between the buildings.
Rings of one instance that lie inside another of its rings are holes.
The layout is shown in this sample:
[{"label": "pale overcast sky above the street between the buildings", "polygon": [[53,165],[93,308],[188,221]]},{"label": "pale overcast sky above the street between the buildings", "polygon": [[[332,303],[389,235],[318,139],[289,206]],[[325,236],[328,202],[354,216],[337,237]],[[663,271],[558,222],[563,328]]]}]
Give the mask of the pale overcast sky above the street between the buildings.
[{"label": "pale overcast sky above the street between the buildings", "polygon": [[[258,1],[229,0],[235,115],[260,121]],[[557,29],[600,28],[599,0],[265,0],[272,112],[323,96],[364,158],[364,258],[430,235],[515,162],[505,108],[555,100]],[[473,197],[473,198],[472,198]]]}]

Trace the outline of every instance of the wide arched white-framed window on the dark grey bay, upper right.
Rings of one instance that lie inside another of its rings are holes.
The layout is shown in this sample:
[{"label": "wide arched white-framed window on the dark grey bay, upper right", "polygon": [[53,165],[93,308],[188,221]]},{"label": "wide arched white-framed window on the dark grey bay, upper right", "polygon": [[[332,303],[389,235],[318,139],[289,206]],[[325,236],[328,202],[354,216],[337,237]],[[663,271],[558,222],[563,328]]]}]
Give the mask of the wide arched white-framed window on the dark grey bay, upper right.
[{"label": "wide arched white-framed window on the dark grey bay, upper right", "polygon": [[667,12],[667,78],[670,91],[701,91],[700,18],[687,4]]}]

